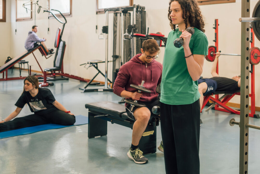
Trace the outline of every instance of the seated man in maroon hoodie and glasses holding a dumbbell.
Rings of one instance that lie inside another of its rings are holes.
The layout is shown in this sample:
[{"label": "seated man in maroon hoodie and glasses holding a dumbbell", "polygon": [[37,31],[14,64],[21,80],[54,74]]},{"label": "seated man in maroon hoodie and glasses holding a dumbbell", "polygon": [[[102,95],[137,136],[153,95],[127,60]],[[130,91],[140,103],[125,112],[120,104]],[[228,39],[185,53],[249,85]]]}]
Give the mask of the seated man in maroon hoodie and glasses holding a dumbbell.
[{"label": "seated man in maroon hoodie and glasses holding a dumbbell", "polygon": [[[139,141],[144,133],[152,113],[152,107],[159,104],[156,86],[161,83],[162,64],[155,61],[160,48],[154,39],[148,39],[142,43],[141,54],[137,54],[130,61],[126,62],[119,69],[113,85],[113,92],[121,97],[138,100],[146,107],[134,107],[126,104],[127,115],[135,119],[132,133],[132,145],[127,156],[137,164],[144,164],[148,159],[142,155],[138,148]],[[151,93],[139,93],[130,84],[140,85],[145,81],[144,87],[151,90]]]}]

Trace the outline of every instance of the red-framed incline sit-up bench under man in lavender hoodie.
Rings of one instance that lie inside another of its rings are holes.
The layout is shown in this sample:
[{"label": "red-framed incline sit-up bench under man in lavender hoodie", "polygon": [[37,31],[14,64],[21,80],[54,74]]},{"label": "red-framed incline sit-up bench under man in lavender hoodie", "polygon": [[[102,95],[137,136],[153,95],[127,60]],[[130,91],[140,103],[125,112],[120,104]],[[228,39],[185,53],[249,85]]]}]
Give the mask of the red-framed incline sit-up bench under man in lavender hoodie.
[{"label": "red-framed incline sit-up bench under man in lavender hoodie", "polygon": [[[8,69],[11,68],[14,64],[18,63],[19,61],[21,61],[23,58],[25,58],[26,56],[28,56],[29,54],[33,54],[37,64],[39,65],[40,69],[42,70],[39,62],[37,61],[35,55],[34,55],[34,51],[35,50],[39,50],[42,54],[42,56],[44,56],[46,59],[48,59],[49,57],[47,56],[47,52],[44,49],[44,47],[42,45],[36,46],[33,49],[29,50],[29,51],[25,51],[22,54],[16,56],[15,58],[11,59],[9,62],[7,62],[6,64],[4,64],[3,66],[0,67],[0,73],[3,73],[3,78],[0,79],[0,81],[4,81],[4,80],[16,80],[16,79],[24,79],[25,77],[11,77],[8,78]],[[5,76],[4,76],[4,71],[6,71]],[[31,72],[31,66],[30,66],[30,72]],[[43,71],[42,71],[43,72]],[[30,73],[31,74],[31,73]]]}]

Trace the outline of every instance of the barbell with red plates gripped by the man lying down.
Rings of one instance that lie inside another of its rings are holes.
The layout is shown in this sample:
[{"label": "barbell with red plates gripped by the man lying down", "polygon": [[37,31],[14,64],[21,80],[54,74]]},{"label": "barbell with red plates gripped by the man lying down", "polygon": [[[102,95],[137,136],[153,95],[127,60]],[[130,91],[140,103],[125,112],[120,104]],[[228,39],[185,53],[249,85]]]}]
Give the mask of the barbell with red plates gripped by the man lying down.
[{"label": "barbell with red plates gripped by the man lying down", "polygon": [[[219,51],[221,52],[221,51]],[[228,55],[228,56],[241,56],[239,54],[220,54],[220,55]],[[215,46],[209,46],[208,55],[206,55],[206,60],[209,62],[213,62],[216,57],[216,48]],[[250,64],[257,65],[260,62],[260,49],[257,47],[250,48]]]}]

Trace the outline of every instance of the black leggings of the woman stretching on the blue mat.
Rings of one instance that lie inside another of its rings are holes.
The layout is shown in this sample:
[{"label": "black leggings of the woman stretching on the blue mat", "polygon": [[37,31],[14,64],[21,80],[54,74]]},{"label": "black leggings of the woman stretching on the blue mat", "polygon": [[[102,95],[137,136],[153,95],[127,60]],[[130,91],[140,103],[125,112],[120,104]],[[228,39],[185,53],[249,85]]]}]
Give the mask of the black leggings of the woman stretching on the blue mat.
[{"label": "black leggings of the woman stretching on the blue mat", "polygon": [[75,121],[76,119],[74,115],[56,109],[42,115],[32,114],[25,117],[18,117],[5,123],[0,123],[0,132],[48,123],[69,126],[73,125]]}]

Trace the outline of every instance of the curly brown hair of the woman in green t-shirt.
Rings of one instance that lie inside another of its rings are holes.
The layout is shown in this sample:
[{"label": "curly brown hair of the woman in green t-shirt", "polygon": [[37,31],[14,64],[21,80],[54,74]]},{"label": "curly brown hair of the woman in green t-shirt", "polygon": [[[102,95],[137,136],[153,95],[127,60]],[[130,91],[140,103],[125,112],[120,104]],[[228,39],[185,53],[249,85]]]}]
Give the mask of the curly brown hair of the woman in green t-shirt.
[{"label": "curly brown hair of the woman in green t-shirt", "polygon": [[205,30],[203,29],[205,23],[203,21],[202,14],[200,12],[200,8],[196,0],[170,0],[169,9],[168,9],[168,19],[170,20],[170,26],[172,30],[175,31],[176,29],[176,25],[172,23],[172,18],[170,16],[171,14],[170,6],[173,1],[177,1],[181,6],[181,10],[183,12],[182,17],[184,19],[185,28],[187,28],[188,25],[187,20],[189,19],[189,23],[191,27],[196,27],[200,31],[205,32]]}]

